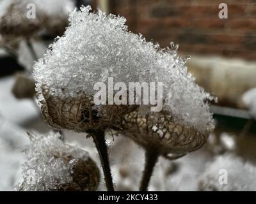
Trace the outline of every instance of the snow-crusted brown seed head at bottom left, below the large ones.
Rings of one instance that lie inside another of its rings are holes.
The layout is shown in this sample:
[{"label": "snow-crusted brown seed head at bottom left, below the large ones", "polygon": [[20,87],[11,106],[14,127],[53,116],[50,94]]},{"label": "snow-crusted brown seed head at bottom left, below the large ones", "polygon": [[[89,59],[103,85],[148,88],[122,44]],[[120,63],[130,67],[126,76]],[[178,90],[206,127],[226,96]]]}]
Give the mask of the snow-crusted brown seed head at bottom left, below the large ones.
[{"label": "snow-crusted brown seed head at bottom left, below the large ones", "polygon": [[60,140],[59,133],[35,136],[28,133],[31,145],[17,191],[95,191],[99,169],[88,152]]}]

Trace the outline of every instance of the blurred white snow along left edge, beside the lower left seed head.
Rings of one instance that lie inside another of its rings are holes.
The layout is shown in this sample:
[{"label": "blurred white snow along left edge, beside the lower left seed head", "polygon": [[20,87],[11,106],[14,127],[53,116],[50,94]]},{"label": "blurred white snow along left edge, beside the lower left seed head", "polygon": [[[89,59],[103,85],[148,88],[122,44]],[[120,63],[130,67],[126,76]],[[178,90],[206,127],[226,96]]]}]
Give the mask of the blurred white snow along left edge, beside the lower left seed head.
[{"label": "blurred white snow along left edge, beside the lower left seed head", "polygon": [[29,139],[20,124],[39,115],[32,100],[12,95],[13,82],[13,77],[0,80],[0,191],[12,191],[21,179],[20,166],[25,159],[21,150]]}]

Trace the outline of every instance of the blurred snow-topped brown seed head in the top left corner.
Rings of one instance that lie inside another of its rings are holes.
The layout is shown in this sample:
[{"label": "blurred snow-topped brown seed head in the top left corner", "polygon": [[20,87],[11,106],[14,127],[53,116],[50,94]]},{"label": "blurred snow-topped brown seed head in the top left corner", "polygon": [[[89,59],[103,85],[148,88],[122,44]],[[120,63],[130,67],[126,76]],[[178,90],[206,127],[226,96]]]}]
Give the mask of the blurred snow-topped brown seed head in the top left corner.
[{"label": "blurred snow-topped brown seed head in the top left corner", "polygon": [[0,3],[0,33],[6,38],[29,38],[38,31],[63,34],[70,0],[3,0]]}]

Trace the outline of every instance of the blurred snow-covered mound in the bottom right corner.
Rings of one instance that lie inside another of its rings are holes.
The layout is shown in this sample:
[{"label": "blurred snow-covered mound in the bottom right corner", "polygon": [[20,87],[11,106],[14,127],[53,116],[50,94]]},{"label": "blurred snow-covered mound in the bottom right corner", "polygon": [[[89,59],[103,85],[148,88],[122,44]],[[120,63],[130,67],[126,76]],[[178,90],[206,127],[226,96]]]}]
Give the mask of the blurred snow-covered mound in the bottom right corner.
[{"label": "blurred snow-covered mound in the bottom right corner", "polygon": [[[225,180],[225,177],[226,180]],[[200,178],[201,191],[255,191],[255,166],[240,157],[225,154],[207,166]]]}]

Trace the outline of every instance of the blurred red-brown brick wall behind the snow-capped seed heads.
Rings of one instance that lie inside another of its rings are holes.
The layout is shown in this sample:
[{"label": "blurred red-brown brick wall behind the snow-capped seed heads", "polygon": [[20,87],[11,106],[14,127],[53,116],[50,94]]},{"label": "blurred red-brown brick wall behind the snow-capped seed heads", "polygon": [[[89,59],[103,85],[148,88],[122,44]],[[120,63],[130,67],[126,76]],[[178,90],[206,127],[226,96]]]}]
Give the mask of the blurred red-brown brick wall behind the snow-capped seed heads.
[{"label": "blurred red-brown brick wall behind the snow-capped seed heads", "polygon": [[[218,17],[220,3],[228,19]],[[256,0],[109,0],[109,10],[161,47],[256,60]]]}]

